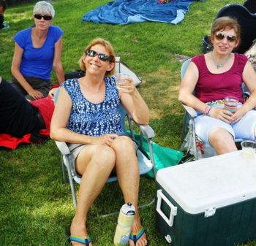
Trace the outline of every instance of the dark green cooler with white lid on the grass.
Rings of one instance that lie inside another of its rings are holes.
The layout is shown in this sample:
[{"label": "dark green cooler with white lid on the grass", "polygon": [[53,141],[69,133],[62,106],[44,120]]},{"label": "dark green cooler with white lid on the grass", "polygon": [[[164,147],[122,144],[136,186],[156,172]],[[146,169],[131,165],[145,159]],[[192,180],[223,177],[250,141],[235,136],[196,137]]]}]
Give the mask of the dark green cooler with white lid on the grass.
[{"label": "dark green cooler with white lid on the grass", "polygon": [[242,150],[157,172],[157,229],[173,246],[256,239],[256,155]]}]

